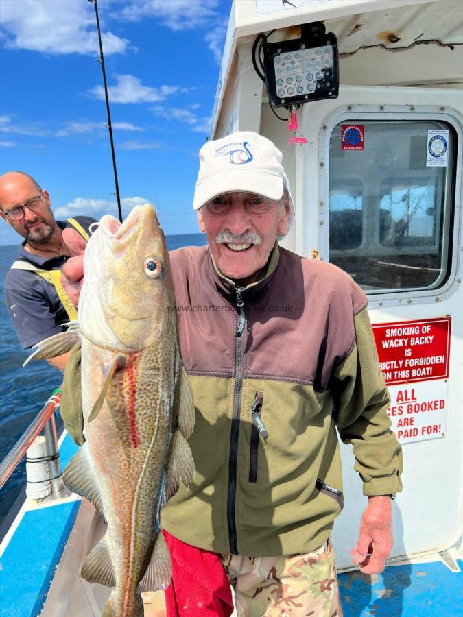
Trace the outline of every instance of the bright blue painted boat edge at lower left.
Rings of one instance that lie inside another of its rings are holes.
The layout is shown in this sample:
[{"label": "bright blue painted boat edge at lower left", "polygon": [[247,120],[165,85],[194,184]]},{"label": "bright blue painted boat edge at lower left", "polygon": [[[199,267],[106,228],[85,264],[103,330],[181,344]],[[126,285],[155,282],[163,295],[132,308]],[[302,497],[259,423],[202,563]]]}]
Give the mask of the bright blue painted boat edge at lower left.
[{"label": "bright blue painted boat edge at lower left", "polygon": [[[64,469],[78,451],[66,435],[60,447]],[[1,558],[0,615],[40,614],[73,529],[80,500],[25,512]]]}]

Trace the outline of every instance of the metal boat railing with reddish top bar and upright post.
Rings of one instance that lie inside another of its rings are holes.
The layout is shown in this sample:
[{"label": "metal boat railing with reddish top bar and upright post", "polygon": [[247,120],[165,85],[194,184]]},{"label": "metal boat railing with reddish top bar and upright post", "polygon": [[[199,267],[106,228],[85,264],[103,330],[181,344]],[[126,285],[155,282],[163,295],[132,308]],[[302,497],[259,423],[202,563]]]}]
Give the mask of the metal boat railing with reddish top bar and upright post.
[{"label": "metal boat railing with reddish top bar and upright post", "polygon": [[0,488],[14,472],[23,457],[26,455],[37,435],[43,431],[45,437],[45,457],[41,461],[47,461],[49,467],[49,481],[51,485],[51,497],[62,496],[64,482],[60,465],[60,453],[58,450],[58,437],[54,413],[60,406],[62,391],[57,388],[51,393],[36,418],[29,424],[23,435],[16,441],[13,448],[8,452],[0,464]]}]

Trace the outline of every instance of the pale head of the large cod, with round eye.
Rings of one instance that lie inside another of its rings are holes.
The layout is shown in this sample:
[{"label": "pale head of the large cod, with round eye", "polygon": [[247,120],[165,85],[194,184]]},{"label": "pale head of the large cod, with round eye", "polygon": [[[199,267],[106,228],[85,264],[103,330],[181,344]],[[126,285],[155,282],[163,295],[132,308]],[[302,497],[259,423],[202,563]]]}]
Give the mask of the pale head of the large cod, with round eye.
[{"label": "pale head of the large cod, with round eye", "polygon": [[150,204],[121,224],[110,215],[88,241],[78,319],[82,334],[109,350],[134,353],[152,346],[174,313],[169,254]]}]

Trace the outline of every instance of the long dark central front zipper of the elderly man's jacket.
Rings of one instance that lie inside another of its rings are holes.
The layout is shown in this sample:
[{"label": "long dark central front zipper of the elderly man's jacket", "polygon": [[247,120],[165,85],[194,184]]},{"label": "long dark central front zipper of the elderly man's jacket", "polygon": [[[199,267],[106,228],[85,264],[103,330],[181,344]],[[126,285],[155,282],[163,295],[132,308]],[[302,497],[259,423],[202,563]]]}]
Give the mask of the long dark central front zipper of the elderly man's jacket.
[{"label": "long dark central front zipper of the elderly man's jacket", "polygon": [[239,435],[239,408],[241,407],[241,386],[243,383],[243,331],[246,322],[244,314],[243,287],[236,288],[237,294],[237,325],[235,330],[235,391],[233,393],[233,415],[230,435],[230,457],[228,459],[228,495],[227,495],[227,522],[228,541],[230,553],[238,554],[237,528],[235,522],[235,499],[237,491],[237,458],[238,458],[238,435]]}]

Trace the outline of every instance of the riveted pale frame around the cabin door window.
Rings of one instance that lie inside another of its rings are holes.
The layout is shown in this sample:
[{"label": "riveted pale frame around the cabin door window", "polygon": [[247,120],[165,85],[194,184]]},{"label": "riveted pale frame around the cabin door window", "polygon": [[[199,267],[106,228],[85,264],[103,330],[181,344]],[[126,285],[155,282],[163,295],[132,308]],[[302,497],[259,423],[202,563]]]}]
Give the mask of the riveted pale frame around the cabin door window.
[{"label": "riveted pale frame around the cabin door window", "polygon": [[[319,138],[318,158],[320,161],[318,171],[318,201],[326,204],[320,212],[320,225],[318,234],[318,247],[320,259],[329,261],[329,178],[330,178],[330,141],[335,127],[341,123],[362,121],[429,121],[442,122],[449,125],[453,132],[454,156],[453,165],[449,173],[454,178],[453,186],[449,193],[449,236],[444,239],[447,250],[447,264],[451,263],[450,269],[444,280],[433,288],[403,288],[388,291],[366,289],[371,307],[374,306],[397,306],[409,304],[409,302],[426,303],[431,298],[436,302],[453,293],[458,288],[460,281],[457,280],[460,261],[460,230],[462,226],[462,213],[460,206],[462,191],[462,143],[463,143],[463,118],[453,109],[445,108],[442,112],[440,106],[392,106],[383,105],[378,111],[377,105],[348,105],[337,108],[322,123]],[[376,230],[375,230],[376,234]]]}]

